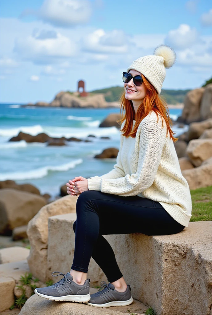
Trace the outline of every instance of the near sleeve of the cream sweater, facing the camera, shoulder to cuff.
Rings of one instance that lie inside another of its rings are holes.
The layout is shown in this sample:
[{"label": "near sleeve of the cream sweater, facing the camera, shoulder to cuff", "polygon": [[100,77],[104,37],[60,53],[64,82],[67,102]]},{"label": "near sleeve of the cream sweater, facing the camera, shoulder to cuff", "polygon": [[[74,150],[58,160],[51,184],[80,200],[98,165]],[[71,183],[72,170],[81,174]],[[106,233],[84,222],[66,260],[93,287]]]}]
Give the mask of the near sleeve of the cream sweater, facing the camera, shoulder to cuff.
[{"label": "near sleeve of the cream sweater, facing the camera, shoulder to cuff", "polygon": [[89,190],[99,190],[101,192],[127,197],[136,196],[153,184],[161,161],[166,136],[161,128],[161,124],[157,123],[155,120],[149,119],[142,121],[138,129],[140,135],[138,140],[139,154],[136,172],[116,179],[89,179]]}]

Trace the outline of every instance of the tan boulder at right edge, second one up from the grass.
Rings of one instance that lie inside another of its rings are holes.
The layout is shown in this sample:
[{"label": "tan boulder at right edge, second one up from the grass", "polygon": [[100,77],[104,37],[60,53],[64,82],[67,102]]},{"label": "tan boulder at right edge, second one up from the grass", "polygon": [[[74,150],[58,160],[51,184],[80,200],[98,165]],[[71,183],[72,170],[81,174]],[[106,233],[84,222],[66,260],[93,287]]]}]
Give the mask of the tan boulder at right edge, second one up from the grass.
[{"label": "tan boulder at right edge, second one up from the grass", "polygon": [[191,140],[186,153],[194,166],[200,166],[204,160],[212,156],[212,139]]}]

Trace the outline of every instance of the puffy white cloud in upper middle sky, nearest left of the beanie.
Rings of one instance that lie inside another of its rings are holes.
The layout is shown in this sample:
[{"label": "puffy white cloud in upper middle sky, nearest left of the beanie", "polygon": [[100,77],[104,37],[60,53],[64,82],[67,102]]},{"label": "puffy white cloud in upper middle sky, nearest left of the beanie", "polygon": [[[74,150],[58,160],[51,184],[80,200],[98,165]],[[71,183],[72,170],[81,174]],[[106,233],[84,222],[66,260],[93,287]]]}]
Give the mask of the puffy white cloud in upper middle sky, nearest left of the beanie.
[{"label": "puffy white cloud in upper middle sky, nearest left of the beanie", "polygon": [[127,38],[123,31],[106,33],[103,29],[98,29],[84,37],[84,50],[93,53],[126,53]]}]

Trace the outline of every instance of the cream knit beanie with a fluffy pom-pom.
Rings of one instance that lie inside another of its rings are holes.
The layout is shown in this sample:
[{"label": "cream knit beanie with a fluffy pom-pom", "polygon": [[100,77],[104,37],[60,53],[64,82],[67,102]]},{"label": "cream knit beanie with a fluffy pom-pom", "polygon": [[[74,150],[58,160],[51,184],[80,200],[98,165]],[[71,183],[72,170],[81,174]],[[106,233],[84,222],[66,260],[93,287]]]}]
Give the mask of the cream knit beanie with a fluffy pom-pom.
[{"label": "cream knit beanie with a fluffy pom-pom", "polygon": [[127,69],[127,72],[131,69],[141,72],[155,87],[158,94],[160,94],[162,83],[166,77],[165,68],[170,68],[174,65],[176,54],[168,45],[157,46],[153,54],[134,60]]}]

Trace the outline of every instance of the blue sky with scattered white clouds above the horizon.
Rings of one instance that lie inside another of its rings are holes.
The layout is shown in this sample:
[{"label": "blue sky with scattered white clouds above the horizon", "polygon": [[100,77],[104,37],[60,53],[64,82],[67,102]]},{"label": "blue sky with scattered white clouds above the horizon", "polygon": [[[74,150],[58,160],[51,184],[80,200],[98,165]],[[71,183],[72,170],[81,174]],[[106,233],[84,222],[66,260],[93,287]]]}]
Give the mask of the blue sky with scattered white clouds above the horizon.
[{"label": "blue sky with scattered white clouds above the horizon", "polygon": [[60,91],[122,85],[138,57],[168,44],[177,54],[164,89],[200,87],[212,76],[207,1],[1,0],[0,101],[51,101]]}]

